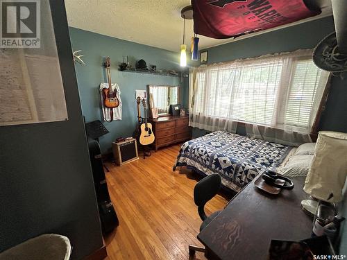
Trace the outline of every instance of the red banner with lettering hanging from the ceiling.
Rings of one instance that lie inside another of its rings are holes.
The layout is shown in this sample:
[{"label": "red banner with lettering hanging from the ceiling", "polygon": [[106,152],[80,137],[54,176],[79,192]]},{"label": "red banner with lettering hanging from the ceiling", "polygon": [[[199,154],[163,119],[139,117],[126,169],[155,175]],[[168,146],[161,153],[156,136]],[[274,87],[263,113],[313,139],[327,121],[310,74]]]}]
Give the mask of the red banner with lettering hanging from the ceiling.
[{"label": "red banner with lettering hanging from the ceiling", "polygon": [[237,37],[318,15],[303,0],[192,0],[194,32]]}]

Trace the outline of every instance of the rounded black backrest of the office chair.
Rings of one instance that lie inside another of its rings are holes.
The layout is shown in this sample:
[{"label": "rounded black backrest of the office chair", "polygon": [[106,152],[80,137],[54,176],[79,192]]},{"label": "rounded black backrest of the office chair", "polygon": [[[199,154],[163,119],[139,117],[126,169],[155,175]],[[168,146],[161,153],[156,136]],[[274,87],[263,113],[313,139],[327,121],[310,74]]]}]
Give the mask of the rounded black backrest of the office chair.
[{"label": "rounded black backrest of the office chair", "polygon": [[198,206],[198,214],[201,220],[207,218],[204,207],[205,204],[217,195],[221,189],[221,176],[218,173],[212,173],[200,180],[194,187],[194,202]]}]

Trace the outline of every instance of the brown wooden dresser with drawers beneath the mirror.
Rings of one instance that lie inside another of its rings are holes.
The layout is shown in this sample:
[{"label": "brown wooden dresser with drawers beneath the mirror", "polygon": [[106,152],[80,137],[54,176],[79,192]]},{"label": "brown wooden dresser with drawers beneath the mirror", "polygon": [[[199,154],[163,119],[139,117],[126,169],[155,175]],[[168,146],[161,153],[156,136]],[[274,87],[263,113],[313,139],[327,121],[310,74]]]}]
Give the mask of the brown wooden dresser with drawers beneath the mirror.
[{"label": "brown wooden dresser with drawers beneath the mirror", "polygon": [[192,130],[189,128],[189,116],[162,116],[151,119],[155,141],[155,150],[169,144],[176,144],[192,138]]}]

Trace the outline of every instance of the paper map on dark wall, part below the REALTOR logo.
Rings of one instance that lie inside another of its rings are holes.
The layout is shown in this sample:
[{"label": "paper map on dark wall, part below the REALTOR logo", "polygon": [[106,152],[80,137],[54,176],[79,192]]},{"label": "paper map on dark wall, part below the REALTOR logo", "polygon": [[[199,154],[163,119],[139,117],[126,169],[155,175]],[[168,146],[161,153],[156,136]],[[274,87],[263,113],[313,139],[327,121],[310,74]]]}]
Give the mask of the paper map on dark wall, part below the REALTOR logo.
[{"label": "paper map on dark wall, part below the REALTOR logo", "polygon": [[0,49],[0,125],[67,120],[58,58]]}]

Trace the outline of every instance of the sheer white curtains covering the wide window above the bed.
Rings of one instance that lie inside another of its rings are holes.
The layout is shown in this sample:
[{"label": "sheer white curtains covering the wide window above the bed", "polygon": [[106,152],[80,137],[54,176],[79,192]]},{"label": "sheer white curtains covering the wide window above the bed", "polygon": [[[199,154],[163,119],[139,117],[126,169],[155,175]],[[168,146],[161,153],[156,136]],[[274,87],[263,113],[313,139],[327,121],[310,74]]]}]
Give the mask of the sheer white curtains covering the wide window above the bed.
[{"label": "sheer white curtains covering the wide window above the bed", "polygon": [[192,69],[189,125],[235,132],[239,121],[251,137],[290,145],[310,141],[329,75],[311,55],[299,50]]}]

